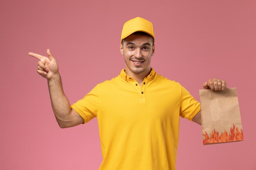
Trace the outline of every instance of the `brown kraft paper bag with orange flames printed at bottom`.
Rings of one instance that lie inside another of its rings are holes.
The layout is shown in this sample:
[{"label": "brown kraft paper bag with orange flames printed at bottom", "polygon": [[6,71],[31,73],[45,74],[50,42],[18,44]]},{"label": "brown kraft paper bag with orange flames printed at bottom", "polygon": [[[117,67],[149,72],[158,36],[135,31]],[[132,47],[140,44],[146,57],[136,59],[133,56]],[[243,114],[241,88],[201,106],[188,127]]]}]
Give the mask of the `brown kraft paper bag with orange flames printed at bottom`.
[{"label": "brown kraft paper bag with orange flames printed at bottom", "polygon": [[244,140],[236,88],[199,90],[203,144]]}]

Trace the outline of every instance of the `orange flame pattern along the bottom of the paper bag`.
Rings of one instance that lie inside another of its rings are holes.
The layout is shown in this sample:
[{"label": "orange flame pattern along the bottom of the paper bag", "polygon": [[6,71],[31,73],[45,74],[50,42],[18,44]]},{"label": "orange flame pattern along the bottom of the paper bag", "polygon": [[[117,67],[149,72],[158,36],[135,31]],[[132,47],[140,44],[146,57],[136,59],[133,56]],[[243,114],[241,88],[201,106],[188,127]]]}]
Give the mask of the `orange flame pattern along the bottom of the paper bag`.
[{"label": "orange flame pattern along the bottom of the paper bag", "polygon": [[214,144],[214,143],[223,143],[223,142],[231,142],[231,141],[242,141],[244,140],[243,130],[238,130],[238,127],[235,128],[233,124],[233,128],[230,128],[230,133],[226,130],[219,135],[219,132],[215,129],[209,135],[207,132],[204,132],[203,144]]}]

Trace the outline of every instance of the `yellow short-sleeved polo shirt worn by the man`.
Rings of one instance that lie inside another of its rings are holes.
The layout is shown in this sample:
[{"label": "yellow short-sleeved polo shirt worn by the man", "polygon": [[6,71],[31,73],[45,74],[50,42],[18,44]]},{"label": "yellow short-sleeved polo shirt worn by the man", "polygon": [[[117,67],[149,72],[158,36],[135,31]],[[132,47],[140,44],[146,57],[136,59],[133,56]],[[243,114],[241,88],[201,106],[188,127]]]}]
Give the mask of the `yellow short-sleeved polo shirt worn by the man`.
[{"label": "yellow short-sleeved polo shirt worn by the man", "polygon": [[175,170],[179,116],[192,121],[200,111],[184,87],[153,68],[142,86],[123,69],[71,107],[85,122],[98,119],[99,170]]}]

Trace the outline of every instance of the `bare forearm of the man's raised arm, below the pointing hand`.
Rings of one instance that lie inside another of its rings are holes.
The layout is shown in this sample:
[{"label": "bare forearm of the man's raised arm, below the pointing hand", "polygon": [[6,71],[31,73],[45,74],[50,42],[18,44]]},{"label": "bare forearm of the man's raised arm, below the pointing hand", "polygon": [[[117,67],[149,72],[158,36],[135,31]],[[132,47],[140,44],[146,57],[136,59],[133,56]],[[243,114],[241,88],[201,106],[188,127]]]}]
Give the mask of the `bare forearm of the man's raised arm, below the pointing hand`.
[{"label": "bare forearm of the man's raised arm, below the pointing hand", "polygon": [[61,126],[63,122],[69,121],[68,118],[71,114],[70,102],[64,94],[61,76],[57,74],[54,75],[52,79],[49,79],[48,87],[52,103],[52,110],[58,124]]}]

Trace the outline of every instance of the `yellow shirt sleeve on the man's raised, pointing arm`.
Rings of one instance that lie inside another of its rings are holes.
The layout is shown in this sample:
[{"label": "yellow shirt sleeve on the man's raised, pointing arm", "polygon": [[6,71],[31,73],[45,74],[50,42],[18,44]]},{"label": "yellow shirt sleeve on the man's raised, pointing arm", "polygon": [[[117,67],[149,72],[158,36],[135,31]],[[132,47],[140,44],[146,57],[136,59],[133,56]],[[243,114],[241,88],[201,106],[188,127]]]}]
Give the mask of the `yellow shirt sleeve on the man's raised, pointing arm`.
[{"label": "yellow shirt sleeve on the man's raised, pointing arm", "polygon": [[99,85],[95,86],[83,99],[72,104],[74,109],[84,119],[84,123],[97,117],[99,109]]}]

